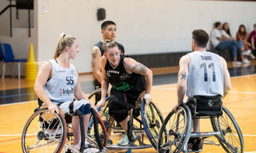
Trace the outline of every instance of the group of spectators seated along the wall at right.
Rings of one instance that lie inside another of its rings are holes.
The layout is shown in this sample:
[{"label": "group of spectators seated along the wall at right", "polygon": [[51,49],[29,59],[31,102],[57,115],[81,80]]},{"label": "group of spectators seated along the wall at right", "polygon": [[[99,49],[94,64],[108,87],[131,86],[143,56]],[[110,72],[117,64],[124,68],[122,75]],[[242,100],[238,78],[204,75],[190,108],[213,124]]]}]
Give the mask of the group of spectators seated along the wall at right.
[{"label": "group of spectators seated along the wall at right", "polygon": [[246,28],[241,24],[236,33],[236,38],[232,37],[229,25],[225,22],[222,26],[220,22],[214,24],[211,32],[211,45],[214,50],[231,50],[233,54],[233,64],[249,64],[250,59],[255,59],[252,50],[255,51],[256,24],[250,35]]}]

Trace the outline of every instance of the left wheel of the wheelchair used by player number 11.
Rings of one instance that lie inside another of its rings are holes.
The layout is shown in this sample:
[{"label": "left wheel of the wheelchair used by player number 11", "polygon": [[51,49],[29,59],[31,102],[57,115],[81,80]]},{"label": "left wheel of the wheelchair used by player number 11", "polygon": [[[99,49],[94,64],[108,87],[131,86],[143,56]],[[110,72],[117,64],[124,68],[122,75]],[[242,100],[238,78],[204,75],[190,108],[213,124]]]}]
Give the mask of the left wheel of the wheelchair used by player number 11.
[{"label": "left wheel of the wheelchair used by player number 11", "polygon": [[157,140],[157,152],[180,152],[191,135],[191,113],[186,105],[178,113],[170,112],[164,119]]}]

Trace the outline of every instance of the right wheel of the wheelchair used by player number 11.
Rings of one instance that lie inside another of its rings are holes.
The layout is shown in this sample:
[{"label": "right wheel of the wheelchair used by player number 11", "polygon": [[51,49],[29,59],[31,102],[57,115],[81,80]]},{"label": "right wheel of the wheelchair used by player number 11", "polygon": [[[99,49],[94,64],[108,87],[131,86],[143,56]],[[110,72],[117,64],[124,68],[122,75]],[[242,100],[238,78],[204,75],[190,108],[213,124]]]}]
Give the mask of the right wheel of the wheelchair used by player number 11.
[{"label": "right wheel of the wheelchair used by player number 11", "polygon": [[[222,116],[211,119],[212,128],[214,131],[219,131],[220,127],[220,131],[223,132],[225,140],[227,140],[227,142],[230,143],[233,147],[238,147],[238,151],[242,153],[244,152],[244,139],[241,129],[239,128],[236,120],[234,119],[233,115],[228,111],[228,109],[222,106],[222,110]],[[235,152],[234,150],[230,149],[230,147],[228,147],[228,145],[226,145],[225,143],[221,142],[220,140],[219,142],[226,152]]]}]

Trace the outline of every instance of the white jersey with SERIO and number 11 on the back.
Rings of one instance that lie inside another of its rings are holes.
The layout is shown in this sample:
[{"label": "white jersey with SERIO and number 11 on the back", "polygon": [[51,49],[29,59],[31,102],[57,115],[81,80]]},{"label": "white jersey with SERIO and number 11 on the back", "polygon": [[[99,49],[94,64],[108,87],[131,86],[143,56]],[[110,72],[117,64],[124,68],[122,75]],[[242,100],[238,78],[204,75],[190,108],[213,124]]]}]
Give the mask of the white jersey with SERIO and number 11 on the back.
[{"label": "white jersey with SERIO and number 11 on the back", "polygon": [[188,54],[188,83],[186,95],[193,96],[223,96],[223,64],[219,55],[212,52],[191,52]]}]

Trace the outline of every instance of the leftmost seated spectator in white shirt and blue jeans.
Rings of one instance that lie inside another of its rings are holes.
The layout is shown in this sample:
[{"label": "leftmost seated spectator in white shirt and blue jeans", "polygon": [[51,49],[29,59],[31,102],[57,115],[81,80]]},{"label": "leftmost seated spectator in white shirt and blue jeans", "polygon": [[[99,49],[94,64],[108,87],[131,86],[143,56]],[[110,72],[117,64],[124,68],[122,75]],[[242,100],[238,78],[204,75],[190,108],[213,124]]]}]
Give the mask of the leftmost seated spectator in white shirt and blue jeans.
[{"label": "leftmost seated spectator in white shirt and blue jeans", "polygon": [[248,61],[244,61],[243,56],[240,54],[241,50],[243,48],[237,43],[235,40],[225,40],[225,38],[222,38],[220,29],[221,24],[220,22],[216,22],[214,24],[214,29],[211,33],[211,43],[216,50],[232,50],[233,53],[233,64],[241,64],[241,62],[237,61],[237,52],[239,52],[239,55],[244,63],[248,63]]}]

